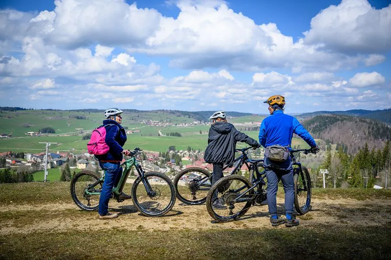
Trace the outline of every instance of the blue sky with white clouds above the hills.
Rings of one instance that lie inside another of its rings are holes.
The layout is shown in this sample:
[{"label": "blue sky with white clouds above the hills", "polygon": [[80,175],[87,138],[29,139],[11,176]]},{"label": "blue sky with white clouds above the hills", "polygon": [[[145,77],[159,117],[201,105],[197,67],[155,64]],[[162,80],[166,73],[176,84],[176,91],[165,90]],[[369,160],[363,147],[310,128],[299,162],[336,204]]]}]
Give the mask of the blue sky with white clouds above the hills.
[{"label": "blue sky with white clouds above the hills", "polygon": [[1,0],[0,106],[391,105],[390,0]]}]

